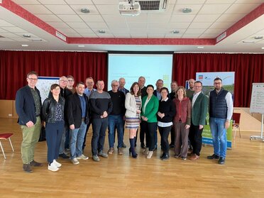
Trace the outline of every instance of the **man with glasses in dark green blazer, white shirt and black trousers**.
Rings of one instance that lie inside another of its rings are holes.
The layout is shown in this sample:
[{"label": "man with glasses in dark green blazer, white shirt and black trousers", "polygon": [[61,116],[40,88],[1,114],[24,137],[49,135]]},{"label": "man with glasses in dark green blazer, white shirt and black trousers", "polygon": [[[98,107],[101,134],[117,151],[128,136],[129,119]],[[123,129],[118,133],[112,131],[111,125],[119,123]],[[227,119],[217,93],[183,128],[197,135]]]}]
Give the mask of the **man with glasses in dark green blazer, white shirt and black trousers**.
[{"label": "man with glasses in dark green blazer, white shirt and black trousers", "polygon": [[202,82],[194,82],[192,97],[192,122],[189,129],[189,141],[192,145],[190,160],[198,160],[202,149],[202,131],[207,117],[208,98],[202,93]]}]

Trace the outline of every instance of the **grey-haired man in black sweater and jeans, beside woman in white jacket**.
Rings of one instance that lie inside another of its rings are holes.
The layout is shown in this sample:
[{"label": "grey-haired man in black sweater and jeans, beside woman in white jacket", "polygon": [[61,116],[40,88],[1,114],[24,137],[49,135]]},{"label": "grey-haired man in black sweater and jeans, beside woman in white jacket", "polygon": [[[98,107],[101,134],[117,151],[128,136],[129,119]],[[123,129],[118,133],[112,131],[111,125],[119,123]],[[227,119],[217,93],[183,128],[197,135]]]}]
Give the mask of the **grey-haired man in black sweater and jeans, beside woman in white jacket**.
[{"label": "grey-haired man in black sweater and jeans, beside woman in white jacket", "polygon": [[123,116],[126,113],[125,108],[125,100],[126,97],[123,92],[119,91],[119,82],[117,80],[113,80],[111,82],[112,90],[109,91],[109,95],[111,97],[111,101],[113,102],[113,110],[111,114],[109,114],[109,151],[108,154],[114,153],[114,133],[115,127],[117,129],[118,136],[118,153],[119,155],[123,155],[122,152],[122,144],[123,144]]}]

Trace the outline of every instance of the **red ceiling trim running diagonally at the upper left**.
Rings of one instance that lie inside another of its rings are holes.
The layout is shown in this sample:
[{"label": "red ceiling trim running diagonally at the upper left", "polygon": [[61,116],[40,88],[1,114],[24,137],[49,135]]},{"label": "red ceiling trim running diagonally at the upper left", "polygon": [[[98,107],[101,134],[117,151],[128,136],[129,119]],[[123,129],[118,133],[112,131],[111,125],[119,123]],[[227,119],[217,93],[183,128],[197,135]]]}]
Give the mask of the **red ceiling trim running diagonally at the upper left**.
[{"label": "red ceiling trim running diagonally at the upper left", "polygon": [[26,21],[33,23],[35,26],[38,26],[39,28],[43,29],[43,31],[46,31],[52,35],[56,35],[57,30],[55,28],[48,25],[48,23],[45,23],[37,16],[33,15],[33,13],[30,13],[26,9],[23,9],[23,7],[19,6],[13,1],[4,0],[2,1],[2,4],[0,4],[0,6],[3,6],[5,9],[8,9],[9,11],[15,13],[18,16],[21,16],[21,18],[24,18]]}]

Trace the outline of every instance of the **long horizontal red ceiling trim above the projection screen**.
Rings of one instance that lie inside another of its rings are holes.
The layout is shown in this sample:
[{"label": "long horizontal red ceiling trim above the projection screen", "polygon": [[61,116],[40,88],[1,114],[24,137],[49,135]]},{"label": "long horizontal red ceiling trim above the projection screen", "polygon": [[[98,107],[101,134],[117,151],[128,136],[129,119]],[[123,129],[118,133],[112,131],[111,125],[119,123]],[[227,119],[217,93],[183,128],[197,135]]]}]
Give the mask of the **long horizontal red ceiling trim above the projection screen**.
[{"label": "long horizontal red ceiling trim above the projection screen", "polygon": [[68,38],[72,44],[105,45],[215,45],[214,38]]}]

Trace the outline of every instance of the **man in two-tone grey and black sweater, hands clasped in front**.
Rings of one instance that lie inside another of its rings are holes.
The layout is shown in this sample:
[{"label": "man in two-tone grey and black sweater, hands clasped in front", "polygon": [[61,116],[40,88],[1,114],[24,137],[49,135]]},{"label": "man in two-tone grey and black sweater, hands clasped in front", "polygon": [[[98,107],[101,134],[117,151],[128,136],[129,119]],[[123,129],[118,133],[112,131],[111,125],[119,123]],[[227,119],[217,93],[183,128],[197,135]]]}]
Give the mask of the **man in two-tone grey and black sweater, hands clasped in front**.
[{"label": "man in two-tone grey and black sweater, hands clasped in front", "polygon": [[104,153],[104,138],[108,126],[108,116],[113,109],[113,104],[109,93],[104,92],[104,81],[97,81],[97,91],[92,92],[89,97],[92,114],[92,159],[99,162],[100,155],[107,158]]}]

